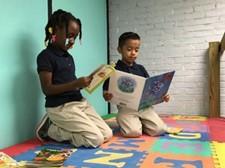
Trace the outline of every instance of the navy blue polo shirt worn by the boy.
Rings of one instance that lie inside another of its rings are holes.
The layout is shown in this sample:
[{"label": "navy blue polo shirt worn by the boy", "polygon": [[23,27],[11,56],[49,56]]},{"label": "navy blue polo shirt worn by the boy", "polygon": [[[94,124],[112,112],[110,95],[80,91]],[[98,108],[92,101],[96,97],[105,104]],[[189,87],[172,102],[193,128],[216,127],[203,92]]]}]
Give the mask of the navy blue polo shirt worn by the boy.
[{"label": "navy blue polo shirt worn by the boy", "polygon": [[[116,63],[115,69],[117,69],[119,71],[131,73],[134,75],[142,76],[145,78],[149,77],[149,74],[146,71],[146,69],[144,68],[144,66],[137,64],[135,62],[133,63],[132,66],[129,66],[129,65],[125,64],[123,61],[118,60]],[[106,80],[103,85],[103,90],[108,90],[108,87],[109,87],[109,80]]]}]

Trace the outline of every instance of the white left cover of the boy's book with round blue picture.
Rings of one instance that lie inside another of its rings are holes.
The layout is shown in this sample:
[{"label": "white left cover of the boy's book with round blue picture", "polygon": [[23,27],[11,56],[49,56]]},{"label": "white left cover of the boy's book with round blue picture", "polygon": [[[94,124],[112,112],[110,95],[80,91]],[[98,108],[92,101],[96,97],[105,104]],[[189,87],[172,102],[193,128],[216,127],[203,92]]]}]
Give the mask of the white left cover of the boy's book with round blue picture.
[{"label": "white left cover of the boy's book with round blue picture", "polygon": [[138,110],[146,78],[116,70],[109,80],[111,103]]}]

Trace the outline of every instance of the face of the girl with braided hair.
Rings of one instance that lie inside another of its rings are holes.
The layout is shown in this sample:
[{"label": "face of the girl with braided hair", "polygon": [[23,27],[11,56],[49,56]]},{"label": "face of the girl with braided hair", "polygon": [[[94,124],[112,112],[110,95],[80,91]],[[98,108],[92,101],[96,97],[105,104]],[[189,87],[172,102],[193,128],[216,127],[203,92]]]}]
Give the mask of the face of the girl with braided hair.
[{"label": "face of the girl with braided hair", "polygon": [[56,44],[63,50],[68,50],[73,47],[76,37],[80,33],[80,27],[75,21],[70,21],[68,25],[68,33],[66,34],[65,27],[56,29]]}]

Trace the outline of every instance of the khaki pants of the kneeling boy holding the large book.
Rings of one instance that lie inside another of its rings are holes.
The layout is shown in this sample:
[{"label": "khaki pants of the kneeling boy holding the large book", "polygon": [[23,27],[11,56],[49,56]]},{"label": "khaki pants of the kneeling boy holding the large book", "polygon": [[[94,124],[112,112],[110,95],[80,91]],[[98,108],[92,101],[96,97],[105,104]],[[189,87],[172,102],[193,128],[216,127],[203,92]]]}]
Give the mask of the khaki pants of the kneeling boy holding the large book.
[{"label": "khaki pants of the kneeling boy holding the large book", "polygon": [[125,137],[138,137],[142,132],[150,136],[158,136],[167,131],[166,124],[149,107],[140,112],[125,107],[118,107],[117,122]]}]

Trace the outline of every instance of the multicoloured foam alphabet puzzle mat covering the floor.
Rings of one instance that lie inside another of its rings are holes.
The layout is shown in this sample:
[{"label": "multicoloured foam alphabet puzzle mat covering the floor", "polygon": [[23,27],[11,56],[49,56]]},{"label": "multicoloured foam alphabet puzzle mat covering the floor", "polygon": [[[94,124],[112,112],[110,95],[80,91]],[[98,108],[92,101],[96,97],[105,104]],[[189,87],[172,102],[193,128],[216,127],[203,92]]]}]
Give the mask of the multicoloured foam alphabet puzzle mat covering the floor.
[{"label": "multicoloured foam alphabet puzzle mat covering the floor", "polygon": [[[63,166],[76,168],[225,168],[225,119],[204,116],[162,116],[177,134],[158,137],[142,135],[124,138],[118,132],[114,116],[106,119],[113,126],[113,138],[98,148],[74,148],[70,144],[36,143],[11,156],[16,161],[32,161],[43,149],[73,149]],[[2,152],[10,154],[10,150]]]}]

